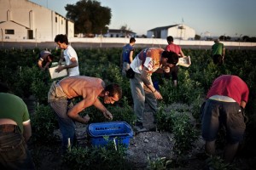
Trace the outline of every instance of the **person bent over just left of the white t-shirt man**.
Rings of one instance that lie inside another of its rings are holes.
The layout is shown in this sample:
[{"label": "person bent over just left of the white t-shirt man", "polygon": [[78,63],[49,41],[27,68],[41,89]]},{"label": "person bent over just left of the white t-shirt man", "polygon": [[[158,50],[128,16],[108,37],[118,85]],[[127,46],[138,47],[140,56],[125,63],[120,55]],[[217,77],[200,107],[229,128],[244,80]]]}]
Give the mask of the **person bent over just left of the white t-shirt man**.
[{"label": "person bent over just left of the white t-shirt man", "polygon": [[54,59],[54,56],[47,50],[43,50],[40,52],[38,57],[38,67],[41,71],[45,71],[49,69],[49,64]]}]

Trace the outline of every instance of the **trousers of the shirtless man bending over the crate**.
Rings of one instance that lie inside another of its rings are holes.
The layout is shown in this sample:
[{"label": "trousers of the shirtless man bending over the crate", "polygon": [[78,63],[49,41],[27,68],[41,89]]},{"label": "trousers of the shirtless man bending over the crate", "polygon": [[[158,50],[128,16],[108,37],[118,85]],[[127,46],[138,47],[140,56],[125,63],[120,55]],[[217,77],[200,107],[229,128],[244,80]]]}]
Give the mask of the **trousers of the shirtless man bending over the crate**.
[{"label": "trousers of the shirtless man bending over the crate", "polygon": [[70,139],[70,144],[76,143],[75,135],[75,123],[73,120],[67,116],[67,111],[69,108],[73,107],[73,103],[69,104],[67,99],[56,99],[52,100],[49,105],[55,111],[57,121],[62,135],[62,151],[65,153],[67,151],[68,139]]}]

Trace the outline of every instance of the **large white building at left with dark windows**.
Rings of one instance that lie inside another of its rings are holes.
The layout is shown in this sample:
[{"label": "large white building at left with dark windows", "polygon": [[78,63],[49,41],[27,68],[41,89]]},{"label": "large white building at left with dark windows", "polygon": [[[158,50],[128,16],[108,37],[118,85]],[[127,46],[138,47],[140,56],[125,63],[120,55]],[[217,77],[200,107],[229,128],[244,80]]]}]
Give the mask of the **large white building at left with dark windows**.
[{"label": "large white building at left with dark windows", "polygon": [[27,0],[0,0],[2,41],[33,39],[52,42],[55,35],[74,37],[73,21]]}]

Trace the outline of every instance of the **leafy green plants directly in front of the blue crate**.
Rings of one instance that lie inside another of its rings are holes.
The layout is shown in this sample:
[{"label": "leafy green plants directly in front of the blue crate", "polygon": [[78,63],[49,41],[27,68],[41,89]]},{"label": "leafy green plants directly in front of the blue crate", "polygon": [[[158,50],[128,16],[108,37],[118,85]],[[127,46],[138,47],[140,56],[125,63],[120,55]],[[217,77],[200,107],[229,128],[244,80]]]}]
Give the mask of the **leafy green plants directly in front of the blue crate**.
[{"label": "leafy green plants directly in front of the blue crate", "polygon": [[118,145],[117,150],[113,142],[104,147],[73,147],[63,156],[63,161],[72,169],[132,169],[129,162],[125,160],[123,145]]}]

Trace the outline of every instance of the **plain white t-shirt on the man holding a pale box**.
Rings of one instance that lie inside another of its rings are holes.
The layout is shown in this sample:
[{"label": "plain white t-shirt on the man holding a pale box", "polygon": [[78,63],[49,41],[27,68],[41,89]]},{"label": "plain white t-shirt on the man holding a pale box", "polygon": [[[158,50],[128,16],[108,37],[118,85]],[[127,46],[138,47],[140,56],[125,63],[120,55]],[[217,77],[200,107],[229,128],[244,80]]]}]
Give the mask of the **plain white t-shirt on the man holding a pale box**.
[{"label": "plain white t-shirt on the man holding a pale box", "polygon": [[[76,51],[73,49],[73,47],[71,47],[70,45],[67,46],[67,49],[64,50],[64,58],[66,61],[66,65],[70,65],[71,59],[75,58],[78,61],[79,64],[79,58],[78,58],[78,54],[76,53]],[[68,72],[68,76],[69,77],[73,77],[73,76],[79,76],[79,65],[73,68],[69,68],[67,69]]]}]

